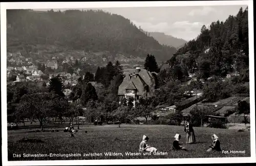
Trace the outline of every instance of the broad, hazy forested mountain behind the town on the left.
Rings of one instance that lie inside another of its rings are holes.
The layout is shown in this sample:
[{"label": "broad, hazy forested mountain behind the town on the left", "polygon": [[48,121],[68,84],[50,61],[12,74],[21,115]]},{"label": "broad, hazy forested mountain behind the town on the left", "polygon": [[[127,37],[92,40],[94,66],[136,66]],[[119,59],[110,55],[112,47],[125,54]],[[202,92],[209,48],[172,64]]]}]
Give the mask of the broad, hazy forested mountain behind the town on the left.
[{"label": "broad, hazy forested mountain behind the town on the left", "polygon": [[152,53],[157,61],[166,61],[176,52],[176,48],[159,44],[129,19],[100,10],[7,10],[7,21],[9,51],[54,45],[84,52],[109,51],[113,56],[121,53],[127,58],[145,58]]}]

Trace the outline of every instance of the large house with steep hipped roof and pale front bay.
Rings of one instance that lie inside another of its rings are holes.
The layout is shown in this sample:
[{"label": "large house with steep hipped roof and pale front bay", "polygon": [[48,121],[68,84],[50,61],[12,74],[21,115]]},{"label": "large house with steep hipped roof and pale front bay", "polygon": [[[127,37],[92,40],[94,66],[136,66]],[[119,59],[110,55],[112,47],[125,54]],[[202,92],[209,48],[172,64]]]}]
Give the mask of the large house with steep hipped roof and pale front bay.
[{"label": "large house with steep hipped roof and pale front bay", "polygon": [[136,68],[135,72],[125,74],[118,88],[119,103],[123,98],[134,98],[138,102],[140,97],[152,97],[155,93],[155,78],[151,72]]}]

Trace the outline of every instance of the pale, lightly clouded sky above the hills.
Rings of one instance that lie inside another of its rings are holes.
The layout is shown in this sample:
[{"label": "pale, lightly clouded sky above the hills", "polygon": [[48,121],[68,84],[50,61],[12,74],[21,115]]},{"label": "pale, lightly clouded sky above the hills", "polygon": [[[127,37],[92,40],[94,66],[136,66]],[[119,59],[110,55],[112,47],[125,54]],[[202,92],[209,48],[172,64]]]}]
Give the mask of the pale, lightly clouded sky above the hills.
[{"label": "pale, lightly clouded sky above the hills", "polygon": [[[101,10],[128,18],[137,27],[141,26],[144,31],[162,32],[189,41],[200,34],[203,25],[208,27],[211,22],[225,21],[229,15],[236,15],[241,7],[245,9],[247,6],[130,7],[101,8]],[[83,8],[83,10],[87,9]],[[97,9],[93,8],[93,10]]]}]

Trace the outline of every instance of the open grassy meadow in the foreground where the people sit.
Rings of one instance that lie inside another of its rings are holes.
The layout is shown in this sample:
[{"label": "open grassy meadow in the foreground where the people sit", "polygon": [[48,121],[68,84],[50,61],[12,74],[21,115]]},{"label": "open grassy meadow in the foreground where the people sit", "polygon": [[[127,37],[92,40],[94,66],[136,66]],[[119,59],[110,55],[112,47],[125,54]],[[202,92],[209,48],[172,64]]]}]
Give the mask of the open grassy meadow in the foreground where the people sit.
[{"label": "open grassy meadow in the foreground where the people sit", "polygon": [[[188,149],[173,151],[172,143],[176,133],[181,134],[181,142],[185,142],[182,126],[167,125],[80,125],[79,131],[70,137],[70,133],[35,132],[35,128],[8,131],[8,160],[73,160],[73,159],[143,159],[143,158],[201,158],[201,157],[249,157],[250,132],[232,129],[194,127],[197,144],[183,144]],[[77,126],[75,126],[75,129]],[[56,128],[55,128],[56,129]],[[47,131],[48,130],[48,131]],[[85,133],[87,131],[87,133]],[[125,152],[137,153],[143,134],[150,140],[148,144],[167,155],[134,155],[127,156]],[[222,150],[243,151],[243,154],[225,154],[222,152],[207,153],[211,145],[211,134],[217,134]],[[26,140],[31,139],[31,140]],[[105,156],[104,153],[116,152],[123,156]],[[50,153],[80,153],[81,156],[71,157],[23,157],[23,154]],[[88,153],[102,153],[102,156],[84,156]],[[20,154],[21,157],[13,157]]]}]

